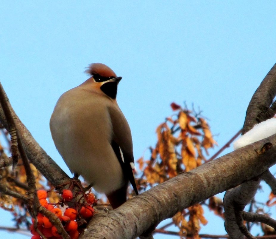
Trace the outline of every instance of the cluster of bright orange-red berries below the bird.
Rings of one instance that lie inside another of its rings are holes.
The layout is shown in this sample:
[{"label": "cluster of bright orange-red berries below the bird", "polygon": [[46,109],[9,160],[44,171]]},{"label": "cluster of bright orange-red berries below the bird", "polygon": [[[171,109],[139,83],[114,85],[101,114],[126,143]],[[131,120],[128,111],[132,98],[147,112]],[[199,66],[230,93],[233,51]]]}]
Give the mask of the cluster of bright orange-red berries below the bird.
[{"label": "cluster of bright orange-red berries below the bird", "polygon": [[[45,190],[38,190],[37,194],[40,204],[60,219],[64,229],[68,232],[71,239],[79,238],[79,235],[83,230],[83,221],[88,221],[94,214],[93,204],[96,202],[94,194],[84,194],[86,203],[78,203],[76,206],[67,207],[65,210],[62,210],[63,208],[61,208],[61,206],[64,206],[66,202],[73,199],[73,193],[71,190],[64,189],[62,192],[62,201],[55,204],[48,203],[47,192]],[[47,239],[62,239],[57,228],[49,221],[49,218],[38,213],[37,220],[37,229]],[[41,239],[39,233],[34,228],[34,222],[35,220],[32,218],[30,231],[33,236],[31,239]]]}]

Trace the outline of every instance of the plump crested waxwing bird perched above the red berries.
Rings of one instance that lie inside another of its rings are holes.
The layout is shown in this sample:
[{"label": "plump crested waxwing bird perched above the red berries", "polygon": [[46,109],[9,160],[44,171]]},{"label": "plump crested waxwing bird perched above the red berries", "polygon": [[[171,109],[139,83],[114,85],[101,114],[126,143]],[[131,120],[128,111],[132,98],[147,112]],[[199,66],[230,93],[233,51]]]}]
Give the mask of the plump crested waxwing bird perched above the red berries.
[{"label": "plump crested waxwing bird perched above the red berries", "polygon": [[91,64],[92,75],[65,92],[54,108],[50,129],[63,160],[115,209],[127,198],[128,182],[138,195],[130,127],[117,101],[121,77],[104,64]]}]

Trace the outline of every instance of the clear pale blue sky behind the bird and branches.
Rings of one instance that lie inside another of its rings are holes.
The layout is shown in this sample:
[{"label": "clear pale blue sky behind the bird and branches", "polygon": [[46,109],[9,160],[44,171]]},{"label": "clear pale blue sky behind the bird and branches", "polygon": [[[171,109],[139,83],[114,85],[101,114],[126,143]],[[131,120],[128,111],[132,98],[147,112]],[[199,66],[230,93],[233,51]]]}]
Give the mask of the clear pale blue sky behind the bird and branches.
[{"label": "clear pale blue sky behind the bird and branches", "polygon": [[[2,0],[0,81],[23,123],[67,173],[49,118],[58,97],[85,81],[94,62],[123,77],[117,100],[135,159],[155,145],[172,101],[200,107],[222,146],[242,127],[252,94],[275,64],[275,9],[275,1]],[[221,221],[216,228],[222,230],[202,232],[225,233]]]}]

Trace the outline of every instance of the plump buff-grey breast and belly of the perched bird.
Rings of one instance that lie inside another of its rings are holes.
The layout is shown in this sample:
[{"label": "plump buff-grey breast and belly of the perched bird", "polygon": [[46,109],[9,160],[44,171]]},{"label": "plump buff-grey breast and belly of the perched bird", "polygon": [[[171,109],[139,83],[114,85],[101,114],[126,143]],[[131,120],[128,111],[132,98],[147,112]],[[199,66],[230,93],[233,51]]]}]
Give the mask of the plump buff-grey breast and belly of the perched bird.
[{"label": "plump buff-grey breast and belly of the perched bird", "polygon": [[82,175],[97,191],[114,191],[121,187],[123,173],[110,144],[110,102],[69,93],[59,99],[50,121],[57,150],[71,172]]}]

